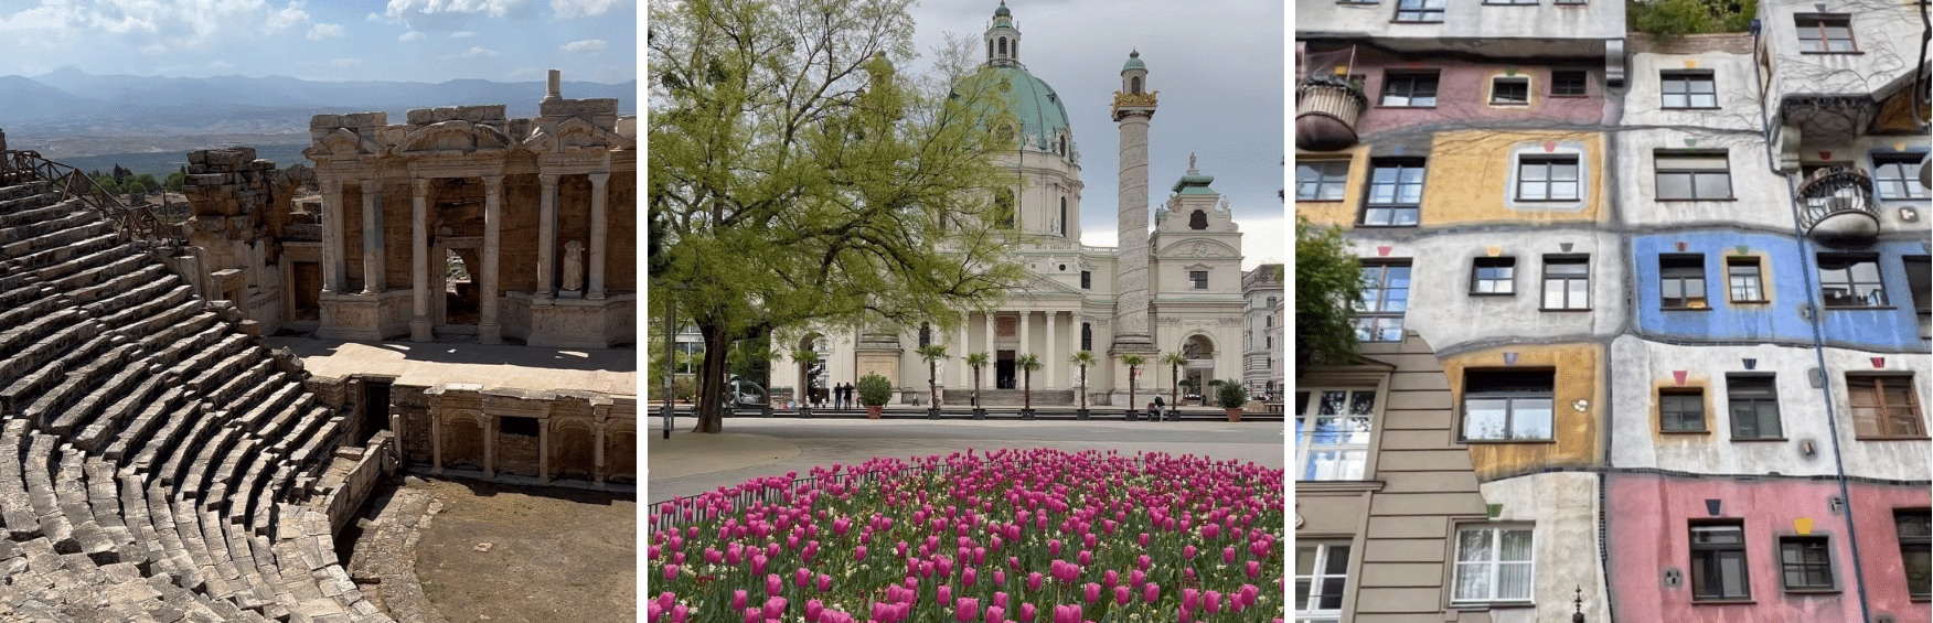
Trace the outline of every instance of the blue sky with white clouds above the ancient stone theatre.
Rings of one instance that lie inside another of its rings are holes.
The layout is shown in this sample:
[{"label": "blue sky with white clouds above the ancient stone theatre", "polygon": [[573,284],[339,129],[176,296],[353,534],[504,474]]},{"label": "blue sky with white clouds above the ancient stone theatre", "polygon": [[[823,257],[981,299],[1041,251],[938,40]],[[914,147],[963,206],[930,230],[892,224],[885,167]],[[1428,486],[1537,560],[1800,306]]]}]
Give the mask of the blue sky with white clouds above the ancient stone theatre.
[{"label": "blue sky with white clouds above the ancient stone theatre", "polygon": [[0,75],[619,83],[638,75],[630,0],[0,0]]}]

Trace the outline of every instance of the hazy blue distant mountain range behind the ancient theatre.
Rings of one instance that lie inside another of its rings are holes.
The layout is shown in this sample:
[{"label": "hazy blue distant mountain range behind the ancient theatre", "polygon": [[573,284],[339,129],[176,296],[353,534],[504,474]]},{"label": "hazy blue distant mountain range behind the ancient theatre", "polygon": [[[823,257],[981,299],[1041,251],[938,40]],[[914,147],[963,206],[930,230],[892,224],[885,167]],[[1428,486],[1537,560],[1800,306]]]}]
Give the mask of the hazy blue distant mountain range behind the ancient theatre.
[{"label": "hazy blue distant mountain range behind the ancient theatre", "polygon": [[[564,81],[563,97],[615,97],[638,110],[638,81]],[[410,108],[505,104],[510,116],[537,114],[543,81],[487,79],[309,81],[269,77],[91,75],[60,68],[43,75],[0,75],[0,130],[33,135],[305,134],[309,116],[385,110],[392,124]]]}]

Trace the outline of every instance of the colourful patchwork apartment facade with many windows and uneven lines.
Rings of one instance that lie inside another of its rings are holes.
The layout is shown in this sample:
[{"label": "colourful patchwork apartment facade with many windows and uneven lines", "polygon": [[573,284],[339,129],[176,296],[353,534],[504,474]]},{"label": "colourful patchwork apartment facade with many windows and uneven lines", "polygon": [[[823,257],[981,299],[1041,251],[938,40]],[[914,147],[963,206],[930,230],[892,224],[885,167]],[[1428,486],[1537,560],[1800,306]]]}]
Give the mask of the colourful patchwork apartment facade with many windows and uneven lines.
[{"label": "colourful patchwork apartment facade with many windows and uneven lines", "polygon": [[1925,6],[1840,4],[1299,2],[1365,294],[1291,397],[1295,621],[1933,619]]}]

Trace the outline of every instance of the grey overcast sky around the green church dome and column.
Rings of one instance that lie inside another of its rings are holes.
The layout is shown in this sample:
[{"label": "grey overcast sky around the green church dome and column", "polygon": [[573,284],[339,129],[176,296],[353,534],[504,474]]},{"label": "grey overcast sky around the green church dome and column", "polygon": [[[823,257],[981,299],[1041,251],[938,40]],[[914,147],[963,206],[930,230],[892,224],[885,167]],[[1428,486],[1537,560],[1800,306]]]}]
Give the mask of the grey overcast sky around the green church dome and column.
[{"label": "grey overcast sky around the green church dome and column", "polygon": [[[1148,201],[1189,168],[1189,153],[1227,197],[1243,230],[1243,269],[1287,259],[1284,188],[1282,0],[1009,0],[1021,29],[1021,64],[1059,93],[1081,147],[1081,232],[1084,244],[1115,244],[1119,128],[1108,118],[1121,64],[1140,50],[1160,108],[1148,128]],[[912,10],[920,68],[947,33],[970,37],[992,25],[999,0],[926,0]],[[980,52],[978,58],[984,58]],[[1152,224],[1152,217],[1150,217]]]}]

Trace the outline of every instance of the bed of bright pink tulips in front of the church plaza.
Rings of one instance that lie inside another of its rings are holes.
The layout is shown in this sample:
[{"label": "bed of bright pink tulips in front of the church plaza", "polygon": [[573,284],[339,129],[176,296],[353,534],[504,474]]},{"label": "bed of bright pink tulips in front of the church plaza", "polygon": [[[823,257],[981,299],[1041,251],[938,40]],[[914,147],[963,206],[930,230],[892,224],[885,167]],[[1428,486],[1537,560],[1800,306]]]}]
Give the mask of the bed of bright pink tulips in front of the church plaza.
[{"label": "bed of bright pink tulips in front of the church plaza", "polygon": [[756,478],[649,515],[646,621],[1280,623],[1284,476],[1003,449]]}]

